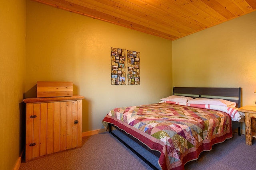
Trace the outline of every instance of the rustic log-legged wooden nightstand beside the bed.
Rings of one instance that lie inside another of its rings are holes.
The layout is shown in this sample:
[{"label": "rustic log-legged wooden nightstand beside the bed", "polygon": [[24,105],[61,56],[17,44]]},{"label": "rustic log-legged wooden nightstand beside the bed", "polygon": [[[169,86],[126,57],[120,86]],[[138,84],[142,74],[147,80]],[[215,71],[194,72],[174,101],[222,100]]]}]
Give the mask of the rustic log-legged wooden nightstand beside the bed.
[{"label": "rustic log-legged wooden nightstand beside the bed", "polygon": [[245,113],[245,142],[252,145],[252,137],[256,138],[256,133],[252,133],[252,118],[256,118],[256,106],[243,106],[238,111]]}]

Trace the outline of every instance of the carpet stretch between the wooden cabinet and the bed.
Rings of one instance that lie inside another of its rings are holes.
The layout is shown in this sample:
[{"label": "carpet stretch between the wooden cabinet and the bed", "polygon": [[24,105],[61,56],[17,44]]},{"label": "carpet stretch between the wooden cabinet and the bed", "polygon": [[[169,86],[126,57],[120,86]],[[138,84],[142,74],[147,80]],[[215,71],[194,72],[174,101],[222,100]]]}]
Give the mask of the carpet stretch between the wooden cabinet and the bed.
[{"label": "carpet stretch between the wooden cabinet and the bed", "polygon": [[20,170],[151,170],[110,133],[82,138],[82,147],[22,162]]}]

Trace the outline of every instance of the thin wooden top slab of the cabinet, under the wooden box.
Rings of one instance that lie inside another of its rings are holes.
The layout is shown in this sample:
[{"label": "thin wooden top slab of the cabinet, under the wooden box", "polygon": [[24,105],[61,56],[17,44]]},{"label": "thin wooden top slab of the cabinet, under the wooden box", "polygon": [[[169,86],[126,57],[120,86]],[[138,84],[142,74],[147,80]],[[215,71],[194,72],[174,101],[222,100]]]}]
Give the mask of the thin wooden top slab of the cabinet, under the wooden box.
[{"label": "thin wooden top slab of the cabinet, under the wooden box", "polygon": [[25,103],[39,103],[39,102],[58,102],[66,100],[80,100],[84,96],[70,96],[70,97],[57,97],[57,98],[26,98],[23,100]]}]

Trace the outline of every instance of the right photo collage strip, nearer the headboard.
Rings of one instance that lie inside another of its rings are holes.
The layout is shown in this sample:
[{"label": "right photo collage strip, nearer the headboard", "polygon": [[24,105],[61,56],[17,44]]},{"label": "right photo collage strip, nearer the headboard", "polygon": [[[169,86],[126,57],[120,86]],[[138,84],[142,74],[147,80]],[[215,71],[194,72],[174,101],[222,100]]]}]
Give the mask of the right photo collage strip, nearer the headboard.
[{"label": "right photo collage strip, nearer the headboard", "polygon": [[140,84],[140,52],[127,50],[128,85]]}]

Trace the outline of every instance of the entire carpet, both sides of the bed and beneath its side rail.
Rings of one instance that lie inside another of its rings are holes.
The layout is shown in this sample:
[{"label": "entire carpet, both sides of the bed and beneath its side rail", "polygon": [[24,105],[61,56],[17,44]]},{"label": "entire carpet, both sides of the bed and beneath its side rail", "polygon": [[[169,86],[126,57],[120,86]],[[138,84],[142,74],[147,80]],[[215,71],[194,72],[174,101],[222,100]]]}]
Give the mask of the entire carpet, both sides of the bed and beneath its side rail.
[{"label": "entire carpet, both sides of the bed and beneath its side rail", "polygon": [[[122,137],[122,133],[116,133]],[[188,162],[186,170],[254,170],[256,142],[245,144],[245,136],[233,133],[232,139],[216,144],[209,152],[202,152],[198,160]],[[122,137],[124,140],[129,140]],[[135,145],[128,141],[129,145]],[[134,146],[150,162],[158,166],[157,158],[139,145]],[[158,166],[159,167],[159,166]],[[20,170],[151,170],[133,152],[108,132],[83,137],[82,147],[23,162]]]}]

